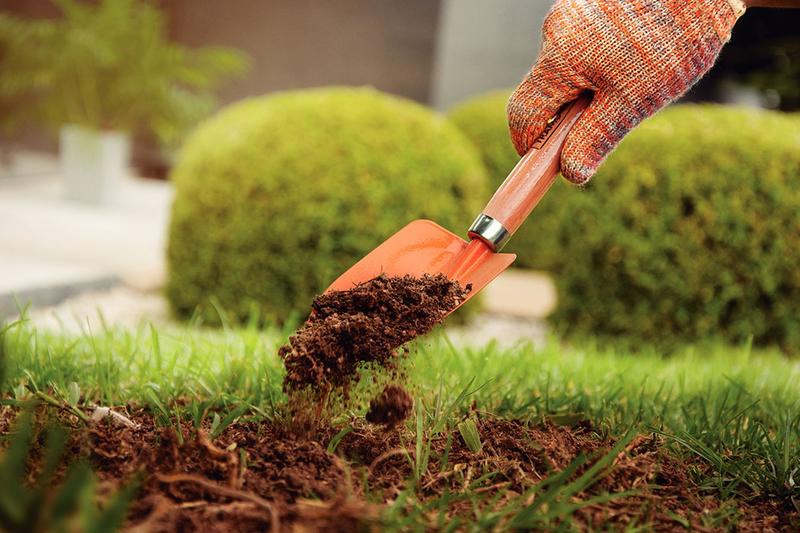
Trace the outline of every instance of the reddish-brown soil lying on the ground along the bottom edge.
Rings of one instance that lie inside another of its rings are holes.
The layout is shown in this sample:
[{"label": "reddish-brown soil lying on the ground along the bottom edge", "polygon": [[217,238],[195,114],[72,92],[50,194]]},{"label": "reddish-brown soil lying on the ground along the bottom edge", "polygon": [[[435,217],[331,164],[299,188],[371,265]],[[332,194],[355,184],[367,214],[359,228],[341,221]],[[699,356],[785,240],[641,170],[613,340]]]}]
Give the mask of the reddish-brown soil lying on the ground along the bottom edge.
[{"label": "reddish-brown soil lying on the ground along the bottom edge", "polygon": [[[125,524],[129,531],[378,529],[382,510],[408,489],[414,474],[409,457],[414,458],[415,450],[403,446],[414,442],[413,434],[402,427],[385,431],[356,421],[334,454],[327,447],[338,431],[330,427],[301,438],[276,423],[243,422],[212,439],[207,427],[190,431],[186,424],[179,436],[172,428],[157,427],[143,411],[131,416],[135,428],[109,419],[85,427],[64,418],[73,426],[70,459],[87,459],[101,486],[119,487],[139,477],[140,490]],[[431,439],[430,462],[416,485],[423,504],[449,495],[449,520],[468,521],[474,505],[499,510],[585,455],[577,478],[614,444],[587,423],[564,427],[488,415],[474,419],[482,451],[471,452],[457,430],[443,431]],[[705,468],[697,460],[674,458],[660,437],[639,436],[595,484],[570,501],[625,494],[582,507],[571,525],[708,531],[709,513],[724,512],[730,503],[703,495],[695,485],[692,471]],[[493,476],[486,475],[491,472]],[[459,497],[467,493],[469,497]],[[785,501],[737,506],[739,531],[790,531],[800,519]]]}]

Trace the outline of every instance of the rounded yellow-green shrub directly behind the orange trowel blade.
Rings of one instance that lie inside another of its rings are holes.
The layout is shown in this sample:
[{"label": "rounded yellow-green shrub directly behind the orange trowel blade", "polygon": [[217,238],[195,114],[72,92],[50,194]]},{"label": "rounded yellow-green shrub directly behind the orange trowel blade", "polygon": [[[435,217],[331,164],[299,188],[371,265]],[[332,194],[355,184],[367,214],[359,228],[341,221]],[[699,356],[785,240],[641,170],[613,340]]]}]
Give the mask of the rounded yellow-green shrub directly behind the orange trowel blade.
[{"label": "rounded yellow-green shrub directly behind the orange trowel blade", "polygon": [[480,158],[445,119],[366,88],[248,99],[187,141],[172,173],[167,295],[282,321],[415,218],[464,233],[486,199]]}]

